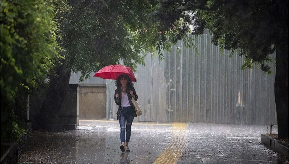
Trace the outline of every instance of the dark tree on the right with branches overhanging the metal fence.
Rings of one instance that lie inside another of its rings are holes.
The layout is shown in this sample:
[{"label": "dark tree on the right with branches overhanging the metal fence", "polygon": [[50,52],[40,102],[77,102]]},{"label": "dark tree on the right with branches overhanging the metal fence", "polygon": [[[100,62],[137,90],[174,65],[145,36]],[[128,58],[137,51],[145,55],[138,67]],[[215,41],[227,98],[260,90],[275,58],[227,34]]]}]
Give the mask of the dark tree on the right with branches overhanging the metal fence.
[{"label": "dark tree on the right with branches overhanging the metal fence", "polygon": [[[209,29],[212,42],[226,50],[237,50],[245,58],[242,68],[266,64],[276,52],[275,104],[278,138],[288,137],[288,2],[282,0],[162,0],[152,13],[163,35],[176,30],[169,40],[201,35]],[[193,31],[190,30],[193,26]]]}]

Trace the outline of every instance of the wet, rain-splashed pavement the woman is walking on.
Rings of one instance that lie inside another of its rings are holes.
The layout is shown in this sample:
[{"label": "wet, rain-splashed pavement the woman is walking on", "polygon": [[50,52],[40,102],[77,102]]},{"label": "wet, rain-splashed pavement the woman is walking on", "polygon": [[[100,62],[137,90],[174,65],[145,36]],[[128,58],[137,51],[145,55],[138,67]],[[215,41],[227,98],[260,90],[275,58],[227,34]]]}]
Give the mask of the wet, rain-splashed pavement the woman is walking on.
[{"label": "wet, rain-splashed pavement the woman is walking on", "polygon": [[77,130],[33,132],[18,163],[288,163],[261,144],[267,126],[134,122],[121,152],[117,121],[80,120]]}]

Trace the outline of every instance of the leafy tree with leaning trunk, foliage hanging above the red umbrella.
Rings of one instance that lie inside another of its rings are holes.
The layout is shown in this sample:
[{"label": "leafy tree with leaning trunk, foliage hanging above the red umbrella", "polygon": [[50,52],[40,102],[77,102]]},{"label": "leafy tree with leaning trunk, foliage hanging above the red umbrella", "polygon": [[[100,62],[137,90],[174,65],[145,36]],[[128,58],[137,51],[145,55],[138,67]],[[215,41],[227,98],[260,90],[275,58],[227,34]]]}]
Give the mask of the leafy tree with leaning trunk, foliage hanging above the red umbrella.
[{"label": "leafy tree with leaning trunk, foliage hanging above the red umbrella", "polygon": [[[69,87],[70,72],[82,73],[116,64],[136,67],[144,64],[146,52],[153,52],[158,39],[157,24],[148,19],[155,1],[57,1],[50,0],[58,23],[57,42],[62,58],[50,71],[49,88],[39,114],[39,127],[49,129]],[[150,32],[147,32],[149,30]],[[165,43],[164,43],[165,44]]]}]

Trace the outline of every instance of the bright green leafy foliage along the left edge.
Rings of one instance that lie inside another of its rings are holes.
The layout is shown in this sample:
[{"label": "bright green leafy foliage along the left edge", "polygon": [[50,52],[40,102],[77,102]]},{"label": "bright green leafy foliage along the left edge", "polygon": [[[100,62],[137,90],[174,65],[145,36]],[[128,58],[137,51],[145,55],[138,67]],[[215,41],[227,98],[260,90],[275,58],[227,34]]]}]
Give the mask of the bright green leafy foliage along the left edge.
[{"label": "bright green leafy foliage along the left edge", "polygon": [[[1,0],[1,140],[19,138],[13,106],[47,77],[58,47],[52,7],[39,1]],[[24,89],[23,89],[24,88]],[[24,131],[24,130],[23,130]]]}]

